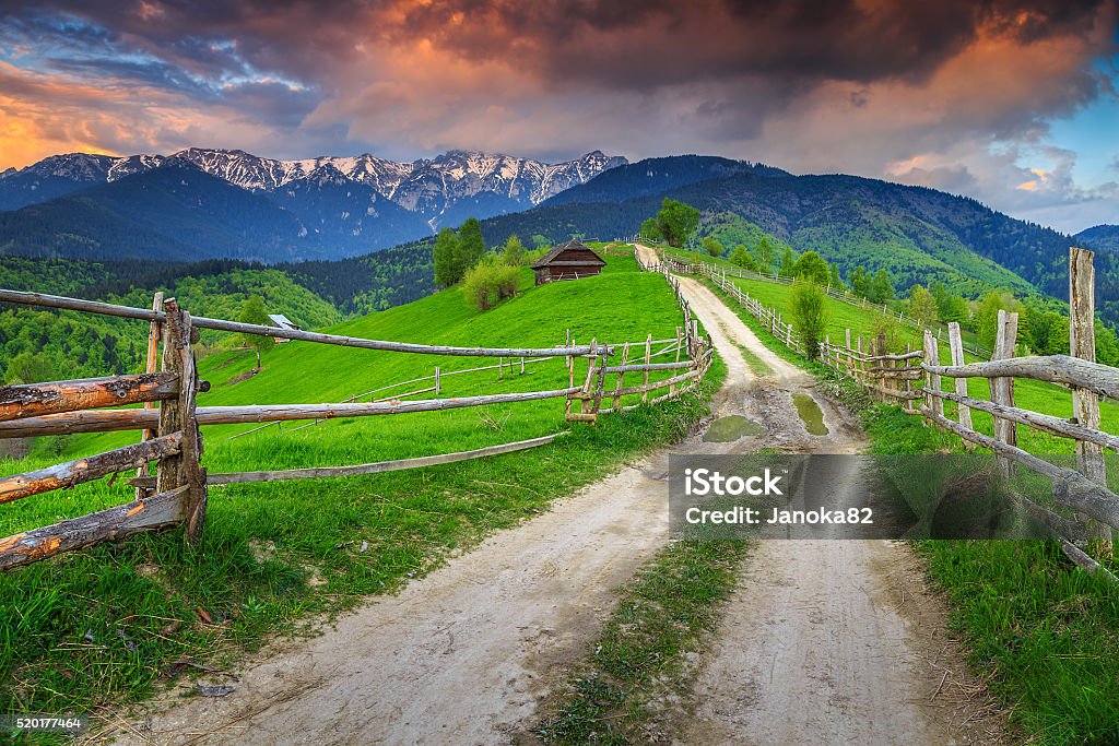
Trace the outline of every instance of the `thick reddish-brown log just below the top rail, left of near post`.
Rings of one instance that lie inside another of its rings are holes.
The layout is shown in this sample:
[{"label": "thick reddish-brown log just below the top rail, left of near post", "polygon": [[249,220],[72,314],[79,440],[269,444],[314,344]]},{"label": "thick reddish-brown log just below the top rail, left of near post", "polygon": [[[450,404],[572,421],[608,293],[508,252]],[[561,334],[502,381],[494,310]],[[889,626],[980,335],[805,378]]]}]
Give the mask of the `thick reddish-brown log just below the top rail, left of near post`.
[{"label": "thick reddish-brown log just below the top rail, left of near post", "polygon": [[178,394],[178,376],[166,372],[4,386],[0,387],[0,422],[159,402],[172,399]]}]

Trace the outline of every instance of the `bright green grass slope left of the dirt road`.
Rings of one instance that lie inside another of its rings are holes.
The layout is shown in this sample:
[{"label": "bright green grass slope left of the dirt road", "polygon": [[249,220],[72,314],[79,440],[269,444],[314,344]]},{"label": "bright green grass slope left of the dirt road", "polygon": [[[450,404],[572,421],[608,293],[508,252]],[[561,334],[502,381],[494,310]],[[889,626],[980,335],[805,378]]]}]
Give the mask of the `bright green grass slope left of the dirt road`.
[{"label": "bright green grass slope left of the dirt road", "polygon": [[[555,346],[567,329],[580,343],[592,337],[623,342],[648,333],[673,338],[681,323],[664,280],[637,272],[631,257],[610,256],[602,276],[543,287],[532,287],[526,272],[523,290],[481,313],[452,289],[330,331]],[[145,333],[143,324],[137,333]],[[448,371],[489,362],[290,342],[270,350],[263,370],[248,378],[250,355],[205,359],[200,371],[213,388],[199,404],[338,402],[430,375],[435,365]],[[519,366],[515,370],[502,380],[496,370],[446,377],[442,396],[567,385],[562,359],[528,366],[524,376]],[[706,410],[700,399],[723,375],[716,360],[700,396],[606,415],[593,426],[568,427],[561,398],[337,419],[300,431],[298,423],[284,424],[237,440],[229,438],[250,426],[204,428],[210,472],[365,463],[571,433],[542,448],[431,469],[211,488],[197,548],[186,547],[180,531],[142,535],[0,575],[0,711],[90,712],[134,700],[177,660],[228,664],[266,633],[389,593],[449,551],[538,513],[623,459],[680,437]],[[134,440],[130,433],[41,438],[29,459],[0,468],[22,472]],[[102,480],[7,504],[0,536],[121,504],[131,493]]]}]

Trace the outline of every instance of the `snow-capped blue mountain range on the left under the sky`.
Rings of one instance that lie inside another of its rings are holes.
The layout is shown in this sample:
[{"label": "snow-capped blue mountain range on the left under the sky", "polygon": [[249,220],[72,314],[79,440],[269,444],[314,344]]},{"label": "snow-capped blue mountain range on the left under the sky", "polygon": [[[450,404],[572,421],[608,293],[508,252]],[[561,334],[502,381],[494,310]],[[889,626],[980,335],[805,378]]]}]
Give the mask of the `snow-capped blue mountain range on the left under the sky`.
[{"label": "snow-capped blue mountain range on the left under the sky", "polygon": [[0,173],[0,253],[340,258],[530,208],[626,162],[599,151],[562,163],[467,151],[410,162],[198,148],[53,155]]}]

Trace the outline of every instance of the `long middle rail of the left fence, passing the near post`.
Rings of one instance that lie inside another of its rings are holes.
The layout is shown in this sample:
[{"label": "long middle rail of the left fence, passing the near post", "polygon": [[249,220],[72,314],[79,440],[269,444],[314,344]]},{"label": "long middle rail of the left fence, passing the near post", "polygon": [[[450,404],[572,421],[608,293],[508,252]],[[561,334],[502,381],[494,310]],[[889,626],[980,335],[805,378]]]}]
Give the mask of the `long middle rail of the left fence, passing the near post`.
[{"label": "long middle rail of the left fence, passing the near post", "polygon": [[[592,366],[592,370],[593,370]],[[369,417],[414,412],[439,412],[493,404],[513,404],[568,396],[582,390],[572,386],[548,391],[525,394],[488,394],[448,399],[413,399],[411,402],[340,403],[340,404],[263,404],[229,407],[198,407],[199,425],[236,425],[245,423],[288,422],[294,419],[329,419],[331,417]],[[0,437],[31,437],[35,435],[65,435],[67,433],[105,433],[122,429],[143,429],[159,423],[158,412],[144,409],[105,409],[76,412],[0,423]],[[19,427],[17,427],[17,425]]]}]

